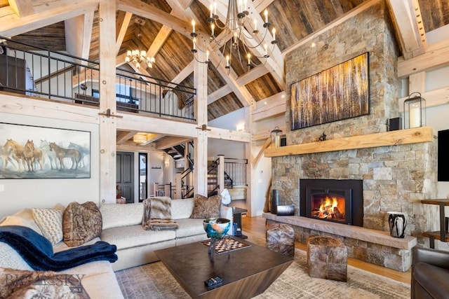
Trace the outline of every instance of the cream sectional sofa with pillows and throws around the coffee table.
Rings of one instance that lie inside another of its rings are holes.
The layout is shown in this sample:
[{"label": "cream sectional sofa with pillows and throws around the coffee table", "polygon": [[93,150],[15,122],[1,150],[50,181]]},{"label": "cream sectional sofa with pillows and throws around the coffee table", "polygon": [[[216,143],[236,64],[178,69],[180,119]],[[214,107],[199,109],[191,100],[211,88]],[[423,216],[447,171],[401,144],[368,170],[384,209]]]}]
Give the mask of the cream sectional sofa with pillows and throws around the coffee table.
[{"label": "cream sectional sofa with pillows and throws around the coffee table", "polygon": [[[206,232],[203,230],[203,219],[189,218],[194,209],[193,198],[171,201],[172,218],[179,225],[177,230],[143,230],[143,209],[142,203],[100,204],[101,237],[86,244],[94,244],[100,239],[115,244],[118,260],[115,263],[98,260],[60,273],[83,275],[81,281],[83,288],[91,298],[123,298],[114,271],[158,260],[154,254],[155,250],[207,239]],[[222,207],[220,216],[232,220],[232,208]],[[31,209],[23,209],[7,216],[0,225],[22,225],[41,233]],[[64,242],[53,246],[54,252],[66,249],[69,247]],[[25,260],[4,242],[0,242],[0,268],[32,270]]]}]

